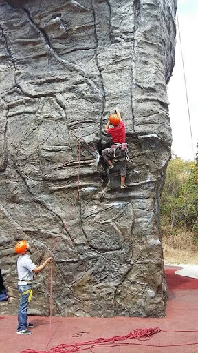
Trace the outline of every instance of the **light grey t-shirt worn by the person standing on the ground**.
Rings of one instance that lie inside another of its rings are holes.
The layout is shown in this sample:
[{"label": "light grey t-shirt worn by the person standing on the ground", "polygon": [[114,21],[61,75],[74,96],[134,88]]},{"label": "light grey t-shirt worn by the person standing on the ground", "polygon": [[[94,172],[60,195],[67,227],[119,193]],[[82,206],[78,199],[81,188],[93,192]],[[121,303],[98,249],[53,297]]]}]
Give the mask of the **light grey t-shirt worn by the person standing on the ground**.
[{"label": "light grey t-shirt worn by the person standing on the ground", "polygon": [[[18,285],[25,285],[29,284],[30,282],[25,282],[26,281],[32,281],[33,279],[33,270],[36,268],[36,265],[32,262],[30,259],[30,256],[25,254],[25,255],[20,255],[19,259],[17,261],[17,271],[18,271],[18,278],[19,282]],[[23,279],[23,281],[21,281]]]}]

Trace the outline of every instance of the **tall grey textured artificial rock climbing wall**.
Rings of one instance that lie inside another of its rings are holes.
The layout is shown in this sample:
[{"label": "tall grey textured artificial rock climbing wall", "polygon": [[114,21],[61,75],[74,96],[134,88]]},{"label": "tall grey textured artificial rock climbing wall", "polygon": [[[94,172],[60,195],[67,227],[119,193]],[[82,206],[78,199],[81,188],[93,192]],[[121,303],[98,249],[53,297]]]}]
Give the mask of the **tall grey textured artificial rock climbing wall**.
[{"label": "tall grey textured artificial rock climbing wall", "polygon": [[[159,201],[170,159],[166,83],[176,0],[0,1],[0,268],[19,305],[19,239],[36,264],[53,251],[53,314],[164,316]],[[109,174],[102,127],[124,112],[127,190]],[[79,137],[81,139],[79,153]],[[67,221],[78,187],[80,191]],[[61,233],[62,232],[62,233]],[[48,315],[50,267],[30,313]]]}]

